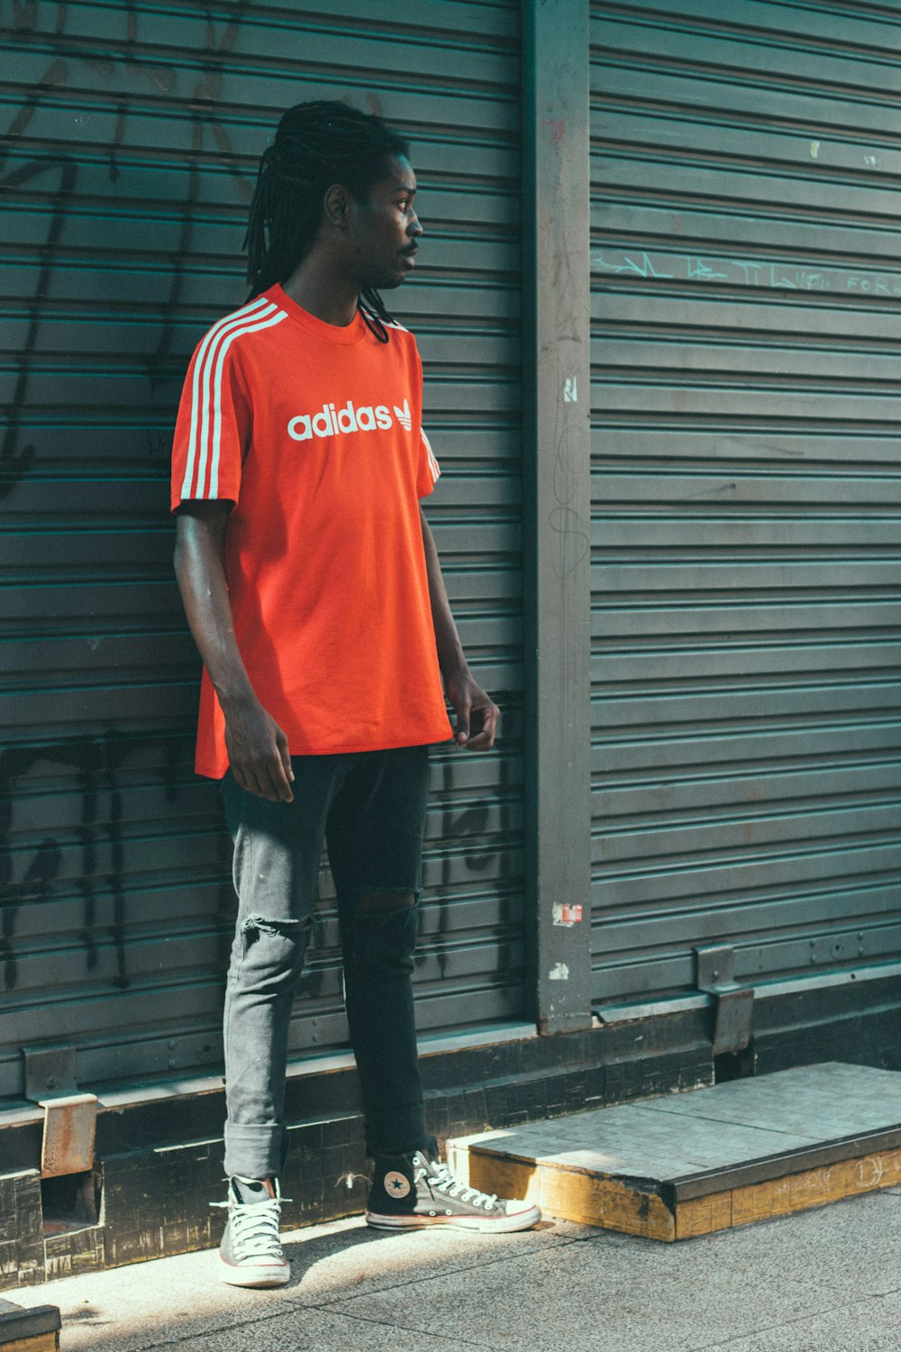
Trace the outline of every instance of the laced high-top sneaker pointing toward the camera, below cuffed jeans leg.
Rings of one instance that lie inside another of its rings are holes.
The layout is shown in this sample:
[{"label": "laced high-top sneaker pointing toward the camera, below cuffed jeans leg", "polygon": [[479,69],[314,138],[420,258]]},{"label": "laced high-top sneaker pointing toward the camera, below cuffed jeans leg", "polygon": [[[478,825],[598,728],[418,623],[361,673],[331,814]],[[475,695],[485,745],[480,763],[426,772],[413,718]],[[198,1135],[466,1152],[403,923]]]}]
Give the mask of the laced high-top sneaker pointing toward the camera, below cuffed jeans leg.
[{"label": "laced high-top sneaker pointing toward the camera, below cuffed jeans leg", "polygon": [[[286,1198],[286,1201],[289,1201]],[[228,1225],[219,1245],[219,1276],[230,1286],[284,1286],[290,1267],[278,1241],[281,1188],[259,1179],[228,1179]]]}]

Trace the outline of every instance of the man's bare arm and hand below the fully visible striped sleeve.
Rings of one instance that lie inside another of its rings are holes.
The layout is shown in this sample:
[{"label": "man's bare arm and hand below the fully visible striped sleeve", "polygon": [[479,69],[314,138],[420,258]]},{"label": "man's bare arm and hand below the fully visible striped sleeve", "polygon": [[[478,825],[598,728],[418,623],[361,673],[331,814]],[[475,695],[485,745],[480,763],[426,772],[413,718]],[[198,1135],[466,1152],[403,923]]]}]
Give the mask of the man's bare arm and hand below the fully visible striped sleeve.
[{"label": "man's bare arm and hand below the fully visible striped sleeve", "polygon": [[290,803],[288,738],[262,707],[244,669],[222,561],[230,503],[189,502],[176,516],[176,577],[188,625],[226,715],[226,748],[242,788]]}]

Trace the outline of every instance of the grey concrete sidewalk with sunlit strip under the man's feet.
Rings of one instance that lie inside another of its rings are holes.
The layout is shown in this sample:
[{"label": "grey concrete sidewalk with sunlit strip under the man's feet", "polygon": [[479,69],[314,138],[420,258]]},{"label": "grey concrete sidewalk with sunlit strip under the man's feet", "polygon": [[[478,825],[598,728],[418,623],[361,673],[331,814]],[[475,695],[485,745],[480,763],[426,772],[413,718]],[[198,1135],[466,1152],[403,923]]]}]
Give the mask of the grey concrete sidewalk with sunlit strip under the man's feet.
[{"label": "grey concrete sidewalk with sunlit strip under the man's feet", "polygon": [[675,1245],[555,1220],[285,1240],[277,1291],[227,1287],[189,1253],[5,1294],[59,1306],[62,1352],[901,1349],[901,1188]]}]

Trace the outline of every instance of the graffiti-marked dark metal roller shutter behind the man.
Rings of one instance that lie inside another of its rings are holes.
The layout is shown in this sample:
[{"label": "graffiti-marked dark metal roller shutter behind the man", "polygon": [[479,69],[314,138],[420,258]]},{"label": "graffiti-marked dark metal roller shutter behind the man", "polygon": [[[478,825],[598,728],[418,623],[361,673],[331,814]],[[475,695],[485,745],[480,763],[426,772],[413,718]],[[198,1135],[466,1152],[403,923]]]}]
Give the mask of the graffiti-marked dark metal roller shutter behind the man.
[{"label": "graffiti-marked dark metal roller shutter behind the man", "polygon": [[[278,114],[309,97],[381,111],[415,143],[428,247],[416,284],[390,300],[427,366],[444,470],[430,516],[451,602],[507,714],[496,754],[435,757],[420,1026],[516,1017],[516,5],[70,0],[15,15],[1,170],[0,1098],[22,1092],[24,1045],[74,1042],[86,1086],[222,1059],[230,848],[215,788],[190,771],[199,668],[172,579],[168,453],[189,353],[244,295],[259,151]],[[344,1040],[323,877],[292,1048]]]}]

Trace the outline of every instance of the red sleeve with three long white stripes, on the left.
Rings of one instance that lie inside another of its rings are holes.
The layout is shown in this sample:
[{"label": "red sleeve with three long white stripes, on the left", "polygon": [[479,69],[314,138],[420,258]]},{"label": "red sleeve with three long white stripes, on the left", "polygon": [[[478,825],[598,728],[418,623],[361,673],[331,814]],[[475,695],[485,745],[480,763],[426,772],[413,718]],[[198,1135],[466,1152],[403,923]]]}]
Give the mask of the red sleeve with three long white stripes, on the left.
[{"label": "red sleeve with three long white stripes, on the left", "polygon": [[172,449],[172,510],[197,498],[238,502],[250,437],[250,407],[227,320],[195,352],[178,406]]}]

